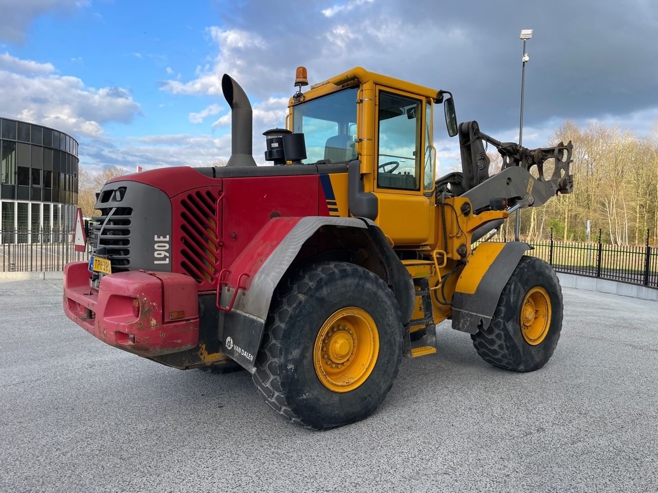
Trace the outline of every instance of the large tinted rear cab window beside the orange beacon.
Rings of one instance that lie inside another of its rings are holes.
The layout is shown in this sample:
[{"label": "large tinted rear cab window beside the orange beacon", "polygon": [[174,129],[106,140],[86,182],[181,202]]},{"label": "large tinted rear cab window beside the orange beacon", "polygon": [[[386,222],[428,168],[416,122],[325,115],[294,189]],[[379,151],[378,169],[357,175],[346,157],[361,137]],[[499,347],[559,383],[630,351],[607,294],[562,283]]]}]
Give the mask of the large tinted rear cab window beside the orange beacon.
[{"label": "large tinted rear cab window beside the orange beacon", "polygon": [[357,87],[293,106],[293,131],[303,132],[306,162],[357,158]]}]

